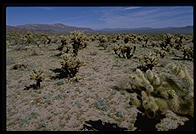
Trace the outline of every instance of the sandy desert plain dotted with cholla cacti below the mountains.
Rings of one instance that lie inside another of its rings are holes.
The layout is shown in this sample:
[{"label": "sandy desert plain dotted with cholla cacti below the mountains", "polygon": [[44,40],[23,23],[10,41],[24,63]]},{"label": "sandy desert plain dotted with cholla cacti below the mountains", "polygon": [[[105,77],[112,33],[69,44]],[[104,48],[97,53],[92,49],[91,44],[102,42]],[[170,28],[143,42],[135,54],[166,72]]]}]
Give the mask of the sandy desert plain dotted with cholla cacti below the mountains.
[{"label": "sandy desert plain dotted with cholla cacti below the mountains", "polygon": [[134,131],[141,113],[169,131],[194,118],[193,35],[9,32],[6,44],[8,130],[100,119]]}]

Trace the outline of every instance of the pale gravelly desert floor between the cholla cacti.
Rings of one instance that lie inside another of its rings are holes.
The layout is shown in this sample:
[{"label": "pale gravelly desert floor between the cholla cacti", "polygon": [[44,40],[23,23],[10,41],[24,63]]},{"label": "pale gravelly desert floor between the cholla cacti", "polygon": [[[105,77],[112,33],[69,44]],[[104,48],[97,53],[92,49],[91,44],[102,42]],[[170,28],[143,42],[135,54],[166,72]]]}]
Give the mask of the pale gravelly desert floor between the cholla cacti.
[{"label": "pale gravelly desert floor between the cholla cacti", "polygon": [[[86,63],[79,69],[79,82],[67,79],[52,79],[61,68],[56,44],[41,47],[43,55],[33,55],[33,51],[7,49],[7,130],[80,130],[85,121],[102,120],[116,123],[119,127],[135,130],[137,109],[129,105],[129,76],[139,65],[137,57],[150,51],[138,46],[133,58],[127,60],[115,56],[110,48],[103,50],[97,42],[82,50],[78,57]],[[33,48],[35,50],[37,48]],[[40,52],[39,52],[40,53]],[[92,54],[92,53],[95,53]],[[184,64],[193,74],[193,62],[172,60],[166,56],[154,71],[164,71],[170,62]],[[27,64],[27,69],[13,70],[14,64]],[[25,87],[34,84],[30,71],[44,69],[46,80],[41,89]],[[192,76],[193,77],[193,76]]]}]

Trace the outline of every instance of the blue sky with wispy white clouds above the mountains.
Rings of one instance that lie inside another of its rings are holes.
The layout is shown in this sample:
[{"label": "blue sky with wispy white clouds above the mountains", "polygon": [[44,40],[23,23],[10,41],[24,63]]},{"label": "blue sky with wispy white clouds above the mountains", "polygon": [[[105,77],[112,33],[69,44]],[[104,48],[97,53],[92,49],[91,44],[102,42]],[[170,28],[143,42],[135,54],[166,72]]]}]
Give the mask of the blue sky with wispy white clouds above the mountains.
[{"label": "blue sky with wispy white clouds above the mountains", "polygon": [[102,28],[193,25],[192,6],[7,7],[7,25],[54,24]]}]

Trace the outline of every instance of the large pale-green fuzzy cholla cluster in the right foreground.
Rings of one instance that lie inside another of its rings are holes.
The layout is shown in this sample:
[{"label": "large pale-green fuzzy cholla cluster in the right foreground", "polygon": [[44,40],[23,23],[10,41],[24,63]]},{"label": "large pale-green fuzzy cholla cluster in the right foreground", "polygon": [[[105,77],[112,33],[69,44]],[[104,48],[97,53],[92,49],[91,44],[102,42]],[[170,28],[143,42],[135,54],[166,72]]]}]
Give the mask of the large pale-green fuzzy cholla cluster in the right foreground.
[{"label": "large pale-green fuzzy cholla cluster in the right foreground", "polygon": [[193,79],[185,66],[171,64],[165,73],[155,74],[151,70],[143,73],[136,70],[130,76],[131,89],[138,97],[131,97],[148,118],[156,118],[168,110],[178,115],[194,116]]}]

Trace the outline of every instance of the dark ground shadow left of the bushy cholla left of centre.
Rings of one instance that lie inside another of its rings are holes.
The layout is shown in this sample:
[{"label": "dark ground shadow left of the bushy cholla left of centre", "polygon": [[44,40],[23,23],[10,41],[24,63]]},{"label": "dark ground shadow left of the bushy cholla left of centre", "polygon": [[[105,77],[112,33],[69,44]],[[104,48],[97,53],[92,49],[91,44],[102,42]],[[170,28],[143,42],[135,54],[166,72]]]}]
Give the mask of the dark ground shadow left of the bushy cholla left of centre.
[{"label": "dark ground shadow left of the bushy cholla left of centre", "polygon": [[50,69],[52,72],[56,73],[56,76],[52,76],[50,79],[51,80],[56,80],[56,79],[64,79],[68,78],[68,74],[63,72],[62,69],[56,68],[56,69]]}]

